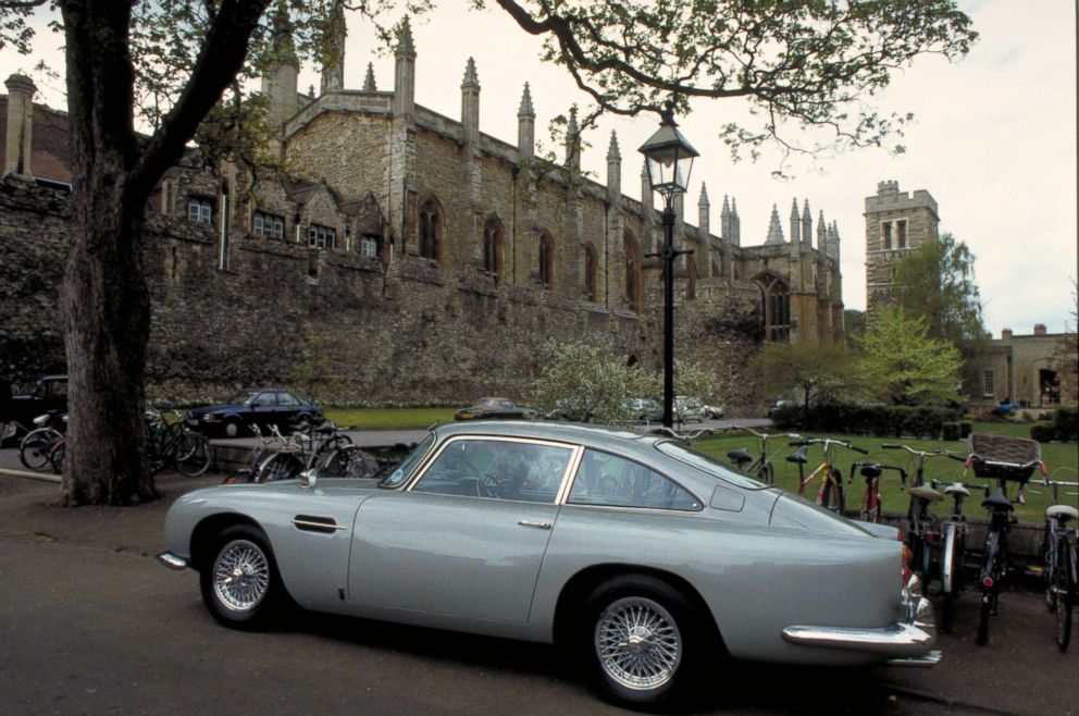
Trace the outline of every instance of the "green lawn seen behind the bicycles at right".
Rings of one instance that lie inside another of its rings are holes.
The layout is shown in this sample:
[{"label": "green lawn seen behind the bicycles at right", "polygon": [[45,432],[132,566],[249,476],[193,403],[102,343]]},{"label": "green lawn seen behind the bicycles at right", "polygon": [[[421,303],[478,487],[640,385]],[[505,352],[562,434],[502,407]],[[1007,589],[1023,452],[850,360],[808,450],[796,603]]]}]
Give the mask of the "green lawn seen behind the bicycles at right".
[{"label": "green lawn seen behind the bicycles at right", "polygon": [[[1017,434],[1017,436],[1028,436],[1027,432],[1029,429],[1027,425],[1014,425],[1013,423],[976,423],[975,432],[997,432],[1001,433],[1003,430],[1012,428],[1022,428],[1024,432],[1006,432],[1004,434]],[[994,430],[995,429],[995,430]],[[943,441],[932,441],[932,440],[895,440],[895,439],[881,439],[881,437],[866,437],[863,435],[849,436],[849,435],[831,435],[831,437],[838,437],[849,443],[857,445],[858,447],[869,450],[867,456],[859,455],[842,447],[835,448],[836,452],[836,462],[840,470],[843,473],[844,479],[844,491],[846,492],[846,505],[848,509],[856,509],[861,504],[861,496],[865,493],[865,481],[860,476],[855,476],[854,483],[851,484],[851,464],[856,459],[872,459],[888,465],[898,465],[907,470],[909,477],[907,478],[907,485],[909,486],[914,480],[914,472],[917,467],[917,461],[906,450],[893,450],[883,449],[881,447],[882,443],[895,444],[903,443],[914,447],[915,449],[934,449],[944,448],[955,453],[966,454],[966,441],[955,441],[951,443],[945,443]],[[697,449],[703,453],[707,453],[718,459],[727,462],[727,452],[734,449],[736,447],[745,447],[749,450],[751,455],[757,454],[757,441],[753,435],[748,434],[737,434],[732,433],[730,435],[723,435],[718,437],[709,437],[698,440],[694,445]],[[796,448],[787,446],[787,441],[777,439],[774,441],[769,441],[769,452],[772,455],[772,465],[776,469],[776,482],[792,492],[796,492],[798,489],[798,469],[797,465],[787,462],[786,456],[794,453]],[[821,448],[819,445],[813,445],[809,448],[809,462],[805,466],[805,473],[809,472],[820,465],[821,461]],[[1042,445],[1042,458],[1049,466],[1050,471],[1056,468],[1065,468],[1056,473],[1055,478],[1058,480],[1070,480],[1076,481],[1076,470],[1079,468],[1079,446],[1075,443],[1069,444],[1056,444],[1050,443]],[[1070,471],[1067,469],[1070,468]],[[985,484],[984,480],[980,480],[973,477],[970,472],[966,478],[963,478],[963,464],[955,460],[951,460],[946,457],[939,457],[929,460],[926,464],[926,480],[932,478],[939,478],[943,480],[966,480],[975,484]],[[1016,516],[1019,520],[1025,522],[1040,522],[1044,519],[1045,507],[1050,504],[1049,495],[1045,494],[1046,491],[1042,487],[1039,482],[1041,480],[1040,473],[1035,472],[1032,478],[1032,484],[1027,490],[1027,504],[1016,505]],[[815,495],[816,486],[818,483],[814,483],[807,489],[807,494]],[[1041,494],[1035,494],[1041,493]],[[1075,492],[1075,489],[1068,492]],[[905,513],[907,505],[909,504],[909,496],[900,490],[900,477],[897,472],[885,471],[884,478],[881,480],[881,493],[883,501],[884,511],[889,513]],[[970,502],[965,506],[965,511],[967,515],[972,517],[983,517],[984,510],[981,507],[980,493],[976,493],[971,496]],[[1009,491],[1009,496],[1015,499],[1015,490]],[[1062,493],[1061,502],[1079,506],[1079,496],[1077,495],[1065,495]],[[937,503],[933,506],[933,511],[939,514],[947,514],[952,508],[951,501],[944,501]]]}]

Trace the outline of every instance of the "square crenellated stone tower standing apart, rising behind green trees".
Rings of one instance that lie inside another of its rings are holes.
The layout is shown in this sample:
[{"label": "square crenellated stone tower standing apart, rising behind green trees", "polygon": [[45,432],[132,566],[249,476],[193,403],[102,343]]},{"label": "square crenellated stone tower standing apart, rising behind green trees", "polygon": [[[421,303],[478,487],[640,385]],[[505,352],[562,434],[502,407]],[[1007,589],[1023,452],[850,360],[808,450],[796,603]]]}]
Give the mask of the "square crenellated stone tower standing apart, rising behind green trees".
[{"label": "square crenellated stone tower standing apart, rising behind green trees", "polygon": [[935,239],[937,200],[925,189],[900,192],[898,182],[879,182],[866,197],[866,313],[889,305],[896,263],[925,242]]}]

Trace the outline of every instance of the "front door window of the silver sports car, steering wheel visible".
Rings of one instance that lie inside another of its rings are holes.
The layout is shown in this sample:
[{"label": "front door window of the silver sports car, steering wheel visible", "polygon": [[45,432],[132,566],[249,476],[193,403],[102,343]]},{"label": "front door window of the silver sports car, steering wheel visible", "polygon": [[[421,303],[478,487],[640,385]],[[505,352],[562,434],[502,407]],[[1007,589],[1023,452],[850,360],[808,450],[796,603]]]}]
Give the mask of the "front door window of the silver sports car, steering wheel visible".
[{"label": "front door window of the silver sports car, steering wheel visible", "polygon": [[443,449],[412,490],[553,505],[572,454],[558,445],[458,440]]}]

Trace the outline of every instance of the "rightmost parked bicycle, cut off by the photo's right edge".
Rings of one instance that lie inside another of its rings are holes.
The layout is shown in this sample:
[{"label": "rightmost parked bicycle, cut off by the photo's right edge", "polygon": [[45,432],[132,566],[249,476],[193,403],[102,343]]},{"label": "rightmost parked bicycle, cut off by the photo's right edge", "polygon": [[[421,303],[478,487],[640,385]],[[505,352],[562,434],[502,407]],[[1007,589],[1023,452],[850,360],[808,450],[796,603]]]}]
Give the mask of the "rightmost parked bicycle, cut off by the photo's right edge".
[{"label": "rightmost parked bicycle, cut off by the photo's right edge", "polygon": [[[1057,468],[1053,474],[1061,470],[1074,472],[1071,468]],[[1056,645],[1062,652],[1066,652],[1071,641],[1072,610],[1079,596],[1076,593],[1079,589],[1076,575],[1076,529],[1068,527],[1068,522],[1079,520],[1079,510],[1061,504],[1059,489],[1076,487],[1079,482],[1051,480],[1042,476],[1042,484],[1053,493],[1053,504],[1045,509],[1045,536],[1042,542],[1045,559],[1042,568],[1045,606],[1050,612],[1056,613]]]}]

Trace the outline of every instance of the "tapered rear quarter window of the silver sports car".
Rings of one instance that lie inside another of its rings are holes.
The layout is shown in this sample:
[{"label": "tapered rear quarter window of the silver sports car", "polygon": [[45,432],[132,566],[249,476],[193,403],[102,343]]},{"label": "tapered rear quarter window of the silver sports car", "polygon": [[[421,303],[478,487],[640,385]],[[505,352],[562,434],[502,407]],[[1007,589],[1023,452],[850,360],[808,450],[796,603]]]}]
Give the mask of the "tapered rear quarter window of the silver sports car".
[{"label": "tapered rear quarter window of the silver sports car", "polygon": [[700,509],[689,492],[640,462],[586,449],[570,490],[571,505],[649,509]]}]

